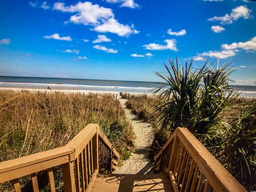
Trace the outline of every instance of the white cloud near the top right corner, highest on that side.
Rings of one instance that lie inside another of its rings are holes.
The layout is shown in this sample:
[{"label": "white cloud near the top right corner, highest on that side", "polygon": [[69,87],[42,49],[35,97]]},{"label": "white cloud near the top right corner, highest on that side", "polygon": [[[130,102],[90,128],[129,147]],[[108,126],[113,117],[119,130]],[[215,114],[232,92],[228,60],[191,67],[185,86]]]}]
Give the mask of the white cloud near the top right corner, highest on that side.
[{"label": "white cloud near the top right corner, highest on that side", "polygon": [[239,18],[249,19],[251,17],[251,12],[252,10],[249,10],[247,6],[241,5],[233,9],[230,14],[225,14],[221,17],[214,16],[213,18],[208,19],[208,21],[221,21],[221,24],[231,24]]}]

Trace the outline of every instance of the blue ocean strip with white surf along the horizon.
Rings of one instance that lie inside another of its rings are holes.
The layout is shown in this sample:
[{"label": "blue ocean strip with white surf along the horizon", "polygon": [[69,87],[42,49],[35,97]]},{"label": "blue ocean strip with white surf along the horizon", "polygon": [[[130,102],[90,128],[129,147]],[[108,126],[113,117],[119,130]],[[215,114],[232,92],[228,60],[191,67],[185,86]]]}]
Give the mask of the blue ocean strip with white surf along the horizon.
[{"label": "blue ocean strip with white surf along the horizon", "polygon": [[[0,76],[0,87],[77,91],[114,91],[148,93],[158,85],[157,82],[111,81],[97,79],[9,77]],[[243,97],[256,97],[256,86],[233,85]]]}]

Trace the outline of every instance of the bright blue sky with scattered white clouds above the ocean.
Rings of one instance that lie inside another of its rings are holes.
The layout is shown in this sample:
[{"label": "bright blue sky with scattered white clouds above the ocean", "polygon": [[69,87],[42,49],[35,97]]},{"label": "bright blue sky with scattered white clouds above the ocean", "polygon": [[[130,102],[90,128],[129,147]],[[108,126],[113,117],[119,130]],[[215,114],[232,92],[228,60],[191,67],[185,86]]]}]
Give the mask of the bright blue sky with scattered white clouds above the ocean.
[{"label": "bright blue sky with scattered white clouds above the ocean", "polygon": [[256,81],[256,2],[0,1],[0,76],[149,81],[178,57]]}]

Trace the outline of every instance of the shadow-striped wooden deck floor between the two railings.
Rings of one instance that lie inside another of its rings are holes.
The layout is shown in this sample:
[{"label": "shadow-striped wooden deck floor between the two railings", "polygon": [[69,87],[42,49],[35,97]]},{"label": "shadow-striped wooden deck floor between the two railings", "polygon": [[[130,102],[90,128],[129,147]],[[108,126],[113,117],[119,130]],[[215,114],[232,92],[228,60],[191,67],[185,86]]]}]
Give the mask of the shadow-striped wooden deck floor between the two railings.
[{"label": "shadow-striped wooden deck floor between the two railings", "polygon": [[166,174],[99,174],[93,192],[173,191]]}]

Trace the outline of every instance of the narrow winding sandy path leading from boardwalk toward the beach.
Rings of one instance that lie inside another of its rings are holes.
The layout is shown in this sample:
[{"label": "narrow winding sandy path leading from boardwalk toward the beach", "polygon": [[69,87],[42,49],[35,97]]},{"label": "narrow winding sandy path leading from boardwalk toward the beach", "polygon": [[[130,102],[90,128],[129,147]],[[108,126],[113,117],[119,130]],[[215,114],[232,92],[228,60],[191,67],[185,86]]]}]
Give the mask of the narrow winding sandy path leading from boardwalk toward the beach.
[{"label": "narrow winding sandy path leading from boardwalk toward the beach", "polygon": [[123,165],[117,167],[115,173],[147,174],[152,173],[152,162],[148,158],[148,148],[153,141],[152,126],[137,119],[130,109],[125,106],[126,99],[119,99],[125,111],[125,116],[130,121],[135,133],[135,146],[131,156]]}]

